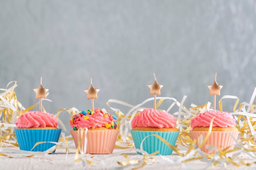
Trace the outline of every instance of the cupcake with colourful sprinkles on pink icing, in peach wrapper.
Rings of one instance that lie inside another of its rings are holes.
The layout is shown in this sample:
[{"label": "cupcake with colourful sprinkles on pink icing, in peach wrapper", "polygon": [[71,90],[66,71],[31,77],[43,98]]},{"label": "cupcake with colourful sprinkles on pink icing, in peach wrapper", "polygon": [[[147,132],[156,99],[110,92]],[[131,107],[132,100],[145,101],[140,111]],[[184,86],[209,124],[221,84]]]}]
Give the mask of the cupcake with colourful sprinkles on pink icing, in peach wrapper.
[{"label": "cupcake with colourful sprinkles on pink icing, in peach wrapper", "polygon": [[73,128],[70,132],[76,148],[80,146],[81,152],[84,152],[85,143],[85,131],[81,132],[83,128],[88,128],[85,153],[110,154],[113,152],[118,135],[116,116],[105,113],[99,108],[95,108],[94,111],[83,110],[71,117],[70,126]]}]

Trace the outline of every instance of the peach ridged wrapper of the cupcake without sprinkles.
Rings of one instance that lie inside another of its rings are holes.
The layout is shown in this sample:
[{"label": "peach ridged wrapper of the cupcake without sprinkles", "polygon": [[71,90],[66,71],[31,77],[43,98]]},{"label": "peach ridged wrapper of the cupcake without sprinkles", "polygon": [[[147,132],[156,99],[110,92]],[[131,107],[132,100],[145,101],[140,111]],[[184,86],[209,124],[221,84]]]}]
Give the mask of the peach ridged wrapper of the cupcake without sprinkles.
[{"label": "peach ridged wrapper of the cupcake without sprinkles", "polygon": [[[191,138],[198,140],[198,137],[202,135],[202,139],[204,139],[207,135],[208,131],[190,131]],[[231,135],[234,136],[234,138],[238,138],[239,132],[229,132]],[[202,141],[201,141],[202,142]],[[221,131],[212,131],[211,135],[205,142],[205,144],[202,146],[201,150],[205,153],[215,153],[216,151],[213,150],[210,152],[210,149],[207,149],[207,145],[213,145],[216,146],[216,148],[223,150],[230,146],[228,150],[232,150],[234,148],[234,145],[236,144],[236,141],[227,133],[221,132]],[[199,146],[198,141],[196,142],[196,146]]]}]

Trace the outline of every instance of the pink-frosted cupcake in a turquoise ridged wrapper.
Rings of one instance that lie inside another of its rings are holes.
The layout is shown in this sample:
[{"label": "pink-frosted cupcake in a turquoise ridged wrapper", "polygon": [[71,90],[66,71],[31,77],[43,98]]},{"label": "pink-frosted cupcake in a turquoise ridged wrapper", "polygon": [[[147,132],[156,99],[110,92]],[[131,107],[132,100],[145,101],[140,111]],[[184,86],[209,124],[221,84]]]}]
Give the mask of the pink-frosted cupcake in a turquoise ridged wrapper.
[{"label": "pink-frosted cupcake in a turquoise ridged wrapper", "polygon": [[[140,149],[142,140],[148,135],[159,135],[172,146],[175,146],[180,133],[175,127],[176,121],[173,115],[154,110],[153,108],[147,108],[141,111],[139,115],[136,115],[132,119],[131,134],[135,148]],[[171,148],[155,136],[147,137],[142,144],[142,148],[148,154],[159,151],[157,155],[171,155],[173,152]],[[137,153],[141,154],[140,152]]]}]

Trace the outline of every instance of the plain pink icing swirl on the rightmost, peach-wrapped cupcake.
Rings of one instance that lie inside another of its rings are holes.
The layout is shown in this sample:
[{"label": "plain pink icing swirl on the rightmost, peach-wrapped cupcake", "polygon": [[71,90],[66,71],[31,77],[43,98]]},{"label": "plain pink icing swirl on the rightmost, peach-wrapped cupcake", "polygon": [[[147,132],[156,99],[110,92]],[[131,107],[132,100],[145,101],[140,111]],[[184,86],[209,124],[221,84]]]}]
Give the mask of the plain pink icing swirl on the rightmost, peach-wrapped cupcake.
[{"label": "plain pink icing swirl on the rightmost, peach-wrapped cupcake", "polygon": [[231,113],[213,110],[195,115],[195,117],[191,119],[191,128],[202,126],[210,127],[213,117],[213,127],[227,128],[236,126],[236,119],[233,118]]}]

